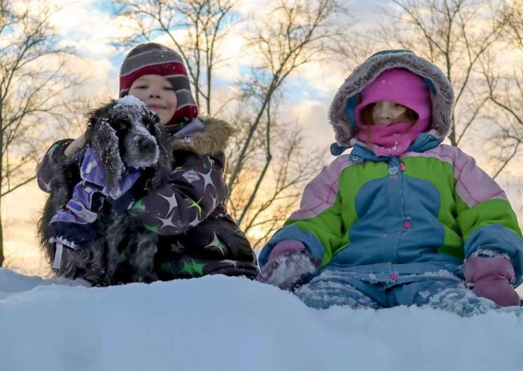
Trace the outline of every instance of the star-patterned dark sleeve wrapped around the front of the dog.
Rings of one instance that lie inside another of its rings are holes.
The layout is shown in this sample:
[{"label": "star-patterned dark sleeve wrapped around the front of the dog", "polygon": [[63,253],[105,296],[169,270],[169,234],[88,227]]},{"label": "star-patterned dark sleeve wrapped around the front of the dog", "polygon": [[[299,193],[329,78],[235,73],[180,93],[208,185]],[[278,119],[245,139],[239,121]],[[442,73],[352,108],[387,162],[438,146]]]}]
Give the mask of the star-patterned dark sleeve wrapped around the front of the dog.
[{"label": "star-patterned dark sleeve wrapped around the front of the dog", "polygon": [[[179,153],[180,151],[178,151]],[[198,225],[224,202],[224,155],[184,152],[169,177],[169,183],[138,200],[130,208],[147,229],[162,235],[181,234]]]}]

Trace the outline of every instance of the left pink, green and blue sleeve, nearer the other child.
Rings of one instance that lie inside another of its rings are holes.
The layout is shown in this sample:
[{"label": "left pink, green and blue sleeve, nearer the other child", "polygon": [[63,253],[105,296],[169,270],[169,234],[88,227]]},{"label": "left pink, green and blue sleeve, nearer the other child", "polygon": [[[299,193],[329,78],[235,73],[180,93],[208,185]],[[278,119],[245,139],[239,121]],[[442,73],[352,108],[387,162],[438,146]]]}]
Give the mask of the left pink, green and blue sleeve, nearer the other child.
[{"label": "left pink, green and blue sleeve, nearer the other child", "polygon": [[263,267],[275,256],[273,249],[285,240],[301,243],[306,254],[323,259],[325,265],[332,255],[347,243],[341,218],[339,175],[351,164],[348,156],[335,159],[326,166],[303,190],[300,209],[294,212],[265,245],[259,256]]}]

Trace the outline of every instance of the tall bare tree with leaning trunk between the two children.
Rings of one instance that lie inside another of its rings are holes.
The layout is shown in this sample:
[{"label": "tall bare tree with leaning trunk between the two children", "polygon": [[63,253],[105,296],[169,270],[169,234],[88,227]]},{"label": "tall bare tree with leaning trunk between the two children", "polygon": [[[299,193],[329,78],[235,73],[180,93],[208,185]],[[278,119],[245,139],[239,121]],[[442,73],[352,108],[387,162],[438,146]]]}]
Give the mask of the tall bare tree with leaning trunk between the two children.
[{"label": "tall bare tree with leaning trunk between the two children", "polygon": [[[239,150],[234,153],[233,166],[228,173],[228,189],[234,199],[235,188],[245,169],[248,154],[257,148],[253,146],[259,127],[265,126],[266,157],[257,175],[255,186],[236,215],[242,225],[246,214],[255,200],[259,187],[266,177],[266,170],[273,157],[270,153],[271,102],[277,97],[281,87],[299,67],[311,62],[324,61],[333,41],[342,35],[336,17],[344,13],[344,8],[335,0],[314,1],[275,1],[275,8],[270,11],[269,19],[254,23],[254,28],[247,36],[247,47],[257,57],[251,74],[244,79],[239,88],[243,98],[255,107],[253,119],[248,122],[248,130],[242,137]],[[266,120],[264,120],[266,117]],[[251,222],[248,225],[252,224]]]}]

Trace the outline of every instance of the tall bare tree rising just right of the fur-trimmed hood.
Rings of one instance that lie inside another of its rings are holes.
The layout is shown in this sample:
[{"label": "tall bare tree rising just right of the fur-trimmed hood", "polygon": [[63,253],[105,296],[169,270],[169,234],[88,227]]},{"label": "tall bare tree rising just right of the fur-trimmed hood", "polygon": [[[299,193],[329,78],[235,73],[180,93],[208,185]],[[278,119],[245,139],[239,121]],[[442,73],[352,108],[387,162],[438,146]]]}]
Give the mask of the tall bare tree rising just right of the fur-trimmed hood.
[{"label": "tall bare tree rising just right of the fur-trimmed hood", "polygon": [[500,1],[389,0],[387,5],[394,6],[381,7],[389,19],[381,36],[442,67],[452,83],[456,106],[449,140],[460,144],[488,99],[478,95],[475,84],[482,80],[480,58],[502,36]]}]

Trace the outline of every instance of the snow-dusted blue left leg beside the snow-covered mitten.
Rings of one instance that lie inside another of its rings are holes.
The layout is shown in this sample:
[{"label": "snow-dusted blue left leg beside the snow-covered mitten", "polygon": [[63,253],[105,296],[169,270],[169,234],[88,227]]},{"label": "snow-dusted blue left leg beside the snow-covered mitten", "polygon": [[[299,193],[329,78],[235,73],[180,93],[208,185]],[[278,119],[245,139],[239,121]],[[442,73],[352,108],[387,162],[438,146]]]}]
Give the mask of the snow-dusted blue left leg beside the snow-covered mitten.
[{"label": "snow-dusted blue left leg beside the snow-covered mitten", "polygon": [[[313,278],[307,284],[301,286],[295,295],[307,306],[312,308],[326,309],[333,305],[350,306],[351,308],[382,308],[371,295],[372,285],[366,282],[350,282],[351,280],[340,279],[339,276],[321,274]],[[369,286],[367,293],[355,286]]]}]

